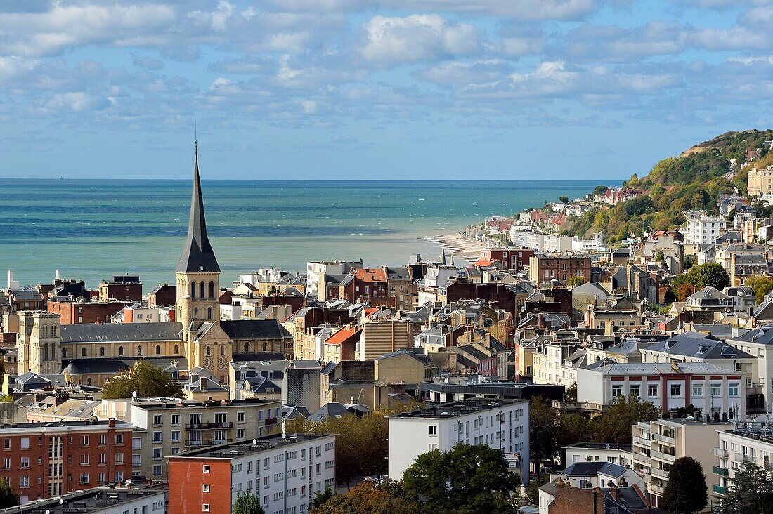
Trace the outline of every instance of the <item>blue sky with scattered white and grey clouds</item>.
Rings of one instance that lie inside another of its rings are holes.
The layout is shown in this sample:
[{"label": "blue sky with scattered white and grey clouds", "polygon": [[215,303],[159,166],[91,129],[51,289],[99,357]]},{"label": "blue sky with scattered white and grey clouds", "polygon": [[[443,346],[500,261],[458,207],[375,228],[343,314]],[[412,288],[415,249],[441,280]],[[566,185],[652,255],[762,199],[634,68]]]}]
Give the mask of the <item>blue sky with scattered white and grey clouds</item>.
[{"label": "blue sky with scattered white and grey clouds", "polygon": [[618,179],[769,128],[773,0],[0,0],[0,178]]}]

